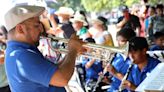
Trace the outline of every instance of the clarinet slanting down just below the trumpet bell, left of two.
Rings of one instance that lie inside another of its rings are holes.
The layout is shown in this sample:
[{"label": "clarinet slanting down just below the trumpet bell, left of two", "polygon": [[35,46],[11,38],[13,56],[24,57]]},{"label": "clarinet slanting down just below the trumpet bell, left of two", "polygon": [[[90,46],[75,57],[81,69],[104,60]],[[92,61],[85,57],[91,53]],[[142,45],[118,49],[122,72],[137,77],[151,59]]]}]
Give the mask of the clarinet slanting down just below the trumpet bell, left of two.
[{"label": "clarinet slanting down just below the trumpet bell, left of two", "polygon": [[112,54],[111,55],[111,59],[109,60],[109,62],[107,63],[106,67],[104,68],[103,70],[103,74],[102,75],[99,75],[98,79],[97,79],[97,82],[92,90],[92,92],[96,92],[96,88],[99,86],[99,83],[102,81],[102,79],[104,78],[104,75],[107,73],[107,66],[110,65],[112,63],[112,61],[114,60],[114,57],[116,56],[116,53],[115,54]]}]

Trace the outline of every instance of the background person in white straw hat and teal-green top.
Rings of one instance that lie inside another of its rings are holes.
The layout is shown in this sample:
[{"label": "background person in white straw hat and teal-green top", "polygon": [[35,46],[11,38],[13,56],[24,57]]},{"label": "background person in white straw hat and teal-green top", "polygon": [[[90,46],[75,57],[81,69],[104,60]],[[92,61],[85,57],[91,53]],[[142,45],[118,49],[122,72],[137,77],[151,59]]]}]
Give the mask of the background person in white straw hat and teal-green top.
[{"label": "background person in white straw hat and teal-green top", "polygon": [[80,39],[85,40],[89,37],[89,34],[87,35],[87,28],[85,27],[88,25],[88,23],[86,22],[83,15],[75,14],[74,18],[70,19],[70,21],[73,23],[76,34],[79,36]]}]

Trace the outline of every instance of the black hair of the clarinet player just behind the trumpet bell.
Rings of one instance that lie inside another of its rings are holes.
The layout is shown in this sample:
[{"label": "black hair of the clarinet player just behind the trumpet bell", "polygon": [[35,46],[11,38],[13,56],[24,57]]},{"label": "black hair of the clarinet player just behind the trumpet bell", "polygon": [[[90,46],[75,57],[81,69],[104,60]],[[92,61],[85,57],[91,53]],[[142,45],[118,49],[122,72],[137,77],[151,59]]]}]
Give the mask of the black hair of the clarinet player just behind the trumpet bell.
[{"label": "black hair of the clarinet player just behind the trumpet bell", "polygon": [[117,32],[117,36],[122,36],[127,40],[130,40],[132,37],[136,36],[136,33],[131,28],[123,28]]}]

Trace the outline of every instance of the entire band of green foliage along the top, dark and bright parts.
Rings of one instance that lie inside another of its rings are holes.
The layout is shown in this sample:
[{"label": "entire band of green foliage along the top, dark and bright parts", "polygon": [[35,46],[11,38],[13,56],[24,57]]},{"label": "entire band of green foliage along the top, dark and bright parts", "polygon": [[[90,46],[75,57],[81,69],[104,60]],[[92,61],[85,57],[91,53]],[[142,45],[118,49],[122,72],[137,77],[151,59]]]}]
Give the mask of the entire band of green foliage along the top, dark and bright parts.
[{"label": "entire band of green foliage along the top, dark and bright parts", "polygon": [[[110,11],[112,8],[119,7],[122,4],[132,6],[133,4],[140,3],[140,0],[57,0],[58,5],[68,6],[74,10],[86,10],[88,12]],[[154,5],[164,0],[149,0]]]}]

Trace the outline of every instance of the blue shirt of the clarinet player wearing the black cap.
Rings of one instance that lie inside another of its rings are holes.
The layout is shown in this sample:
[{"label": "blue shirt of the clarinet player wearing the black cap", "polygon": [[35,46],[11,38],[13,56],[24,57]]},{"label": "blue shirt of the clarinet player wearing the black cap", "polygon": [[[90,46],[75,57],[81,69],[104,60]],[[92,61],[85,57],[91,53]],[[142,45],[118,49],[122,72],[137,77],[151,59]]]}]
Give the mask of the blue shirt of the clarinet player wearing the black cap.
[{"label": "blue shirt of the clarinet player wearing the black cap", "polygon": [[148,63],[142,71],[139,70],[137,65],[133,65],[132,70],[128,76],[128,80],[135,86],[139,86],[139,84],[147,77],[147,74],[150,73],[158,63],[160,63],[159,60],[148,57]]}]

